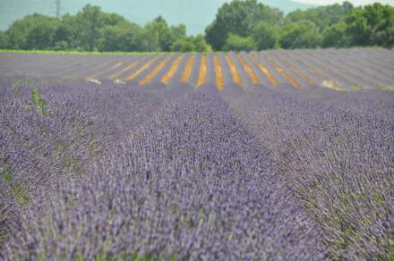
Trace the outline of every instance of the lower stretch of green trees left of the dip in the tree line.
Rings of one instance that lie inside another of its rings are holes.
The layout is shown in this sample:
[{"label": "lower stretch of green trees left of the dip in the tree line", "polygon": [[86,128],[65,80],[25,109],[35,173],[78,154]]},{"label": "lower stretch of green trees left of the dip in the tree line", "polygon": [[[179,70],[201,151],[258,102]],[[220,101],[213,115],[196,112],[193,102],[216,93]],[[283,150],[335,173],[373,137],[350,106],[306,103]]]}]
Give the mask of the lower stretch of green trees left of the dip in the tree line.
[{"label": "lower stretch of green trees left of the dip in the tree line", "polygon": [[33,14],[15,21],[0,33],[0,47],[13,49],[53,49],[81,51],[208,51],[203,37],[186,38],[183,24],[169,26],[161,16],[144,27],[115,13],[104,13],[99,6],[87,4],[75,15],[61,19]]}]

